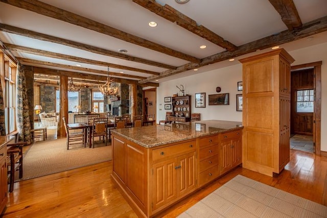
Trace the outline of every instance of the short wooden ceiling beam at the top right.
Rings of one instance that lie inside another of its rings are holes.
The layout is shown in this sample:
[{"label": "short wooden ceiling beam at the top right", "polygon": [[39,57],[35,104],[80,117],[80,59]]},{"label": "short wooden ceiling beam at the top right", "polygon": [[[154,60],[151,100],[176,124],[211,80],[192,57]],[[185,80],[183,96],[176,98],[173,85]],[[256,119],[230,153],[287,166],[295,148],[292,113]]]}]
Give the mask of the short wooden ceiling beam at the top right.
[{"label": "short wooden ceiling beam at the top right", "polygon": [[293,0],[269,0],[270,4],[281,15],[289,30],[302,27],[302,21]]}]

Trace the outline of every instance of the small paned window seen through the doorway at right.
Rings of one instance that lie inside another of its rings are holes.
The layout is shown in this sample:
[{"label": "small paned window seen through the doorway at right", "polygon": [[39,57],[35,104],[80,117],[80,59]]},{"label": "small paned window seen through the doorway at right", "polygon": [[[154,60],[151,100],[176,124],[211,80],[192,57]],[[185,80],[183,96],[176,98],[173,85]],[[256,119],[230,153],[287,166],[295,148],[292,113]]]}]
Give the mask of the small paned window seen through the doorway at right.
[{"label": "small paned window seen through the doorway at right", "polygon": [[296,91],[296,112],[312,113],[314,94],[313,89],[297,90]]}]

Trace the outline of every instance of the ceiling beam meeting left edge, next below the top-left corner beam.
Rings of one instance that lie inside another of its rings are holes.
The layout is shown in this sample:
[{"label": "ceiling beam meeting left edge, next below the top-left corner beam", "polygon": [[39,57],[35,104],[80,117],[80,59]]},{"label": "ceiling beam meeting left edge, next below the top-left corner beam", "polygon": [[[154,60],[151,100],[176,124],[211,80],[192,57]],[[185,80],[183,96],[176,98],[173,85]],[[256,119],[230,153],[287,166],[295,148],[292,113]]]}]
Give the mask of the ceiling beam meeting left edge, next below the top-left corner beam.
[{"label": "ceiling beam meeting left edge, next below the top-left corner beam", "polygon": [[120,58],[120,59],[127,60],[127,61],[148,64],[148,65],[157,66],[157,67],[166,68],[166,69],[176,69],[176,67],[172,66],[172,65],[158,63],[158,62],[146,60],[143,58],[128,56],[128,55],[125,55],[122,53],[112,52],[109,50],[101,49],[100,47],[83,44],[80,42],[75,42],[75,41],[71,41],[71,40],[67,40],[67,39],[63,39],[63,38],[59,38],[59,37],[55,37],[55,36],[50,36],[50,35],[46,35],[43,33],[34,32],[31,30],[21,29],[18,27],[13,27],[10,25],[6,25],[4,23],[0,23],[0,31],[16,34],[16,35],[20,35],[20,36],[25,36],[25,37],[29,37],[29,38],[33,38],[33,39],[38,39],[38,40],[42,40],[42,41],[49,41],[49,42],[53,42],[53,43],[57,43],[57,44],[70,46],[70,47],[75,47],[76,49],[81,49],[81,50],[84,50],[87,52],[110,56],[110,57],[114,57],[114,58]]}]

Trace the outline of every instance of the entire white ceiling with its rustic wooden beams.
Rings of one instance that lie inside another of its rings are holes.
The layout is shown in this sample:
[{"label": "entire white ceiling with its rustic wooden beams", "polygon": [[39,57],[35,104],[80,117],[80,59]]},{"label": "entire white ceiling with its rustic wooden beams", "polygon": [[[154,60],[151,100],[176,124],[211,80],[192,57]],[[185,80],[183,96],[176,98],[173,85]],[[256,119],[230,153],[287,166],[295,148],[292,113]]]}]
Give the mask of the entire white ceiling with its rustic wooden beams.
[{"label": "entire white ceiling with its rustic wooden beams", "polygon": [[109,66],[115,82],[157,87],[275,45],[326,42],[326,30],[325,0],[0,0],[0,47],[39,84],[97,86]]}]

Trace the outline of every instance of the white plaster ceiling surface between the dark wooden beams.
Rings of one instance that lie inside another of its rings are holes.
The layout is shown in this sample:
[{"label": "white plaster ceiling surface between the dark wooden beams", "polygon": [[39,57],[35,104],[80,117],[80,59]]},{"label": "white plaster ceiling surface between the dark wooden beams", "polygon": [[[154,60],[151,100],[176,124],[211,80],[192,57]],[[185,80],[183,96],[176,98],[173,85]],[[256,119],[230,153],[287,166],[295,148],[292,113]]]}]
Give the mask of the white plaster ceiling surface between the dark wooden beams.
[{"label": "white plaster ceiling surface between the dark wooden beams", "polygon": [[[302,23],[307,23],[327,15],[326,0],[293,1]],[[202,59],[225,51],[225,49],[222,47],[209,42],[204,38],[201,38],[200,36],[179,27],[176,25],[176,23],[170,22],[169,20],[166,20],[133,3],[132,0],[42,0],[41,2],[76,13],[103,23],[107,26],[164,45],[170,49],[194,56],[196,58]],[[190,0],[189,3],[183,5],[177,4],[175,0],[157,0],[156,2],[161,5],[170,5],[179,12],[185,14],[193,20],[196,20],[198,25],[203,25],[207,29],[213,31],[217,35],[237,46],[287,30],[286,25],[281,19],[281,15],[278,14],[268,0]],[[150,28],[148,26],[149,21],[156,21],[158,26],[156,28]],[[44,15],[40,15],[25,9],[20,9],[2,2],[0,2],[0,22],[22,29],[32,30],[43,34],[93,45],[114,52],[118,52],[120,49],[126,49],[128,51],[127,55],[129,56],[144,58],[176,67],[188,63],[186,60],[168,56],[166,54],[147,49],[146,47],[138,46],[108,35],[72,25],[68,22],[46,17]],[[314,36],[314,40],[303,41],[302,39],[288,43],[285,45],[285,47],[287,47],[288,51],[292,51],[294,49],[298,49],[299,46],[310,46],[318,41],[326,42],[327,36],[325,33],[326,32]],[[166,68],[90,53],[61,44],[41,41],[1,31],[0,40],[4,43],[32,47],[33,49],[120,64],[155,72],[164,72],[167,70]],[[200,49],[200,45],[206,45],[207,47],[206,49]],[[12,54],[15,57],[61,63],[72,66],[81,64],[82,67],[86,68],[100,69],[104,71],[107,70],[107,67],[105,66],[77,63],[73,61],[60,60],[57,58],[31,55],[23,52],[12,52]],[[196,73],[237,63],[237,61],[223,61],[221,63],[204,66]],[[34,65],[37,66],[37,64]],[[57,67],[48,66],[48,68]],[[124,74],[143,77],[151,76],[150,74],[145,74],[142,72],[121,70],[119,68],[112,67],[110,68],[110,71],[124,71]],[[188,72],[159,79],[159,82],[168,81],[176,77],[188,76],[195,73],[193,70],[189,70]]]}]

